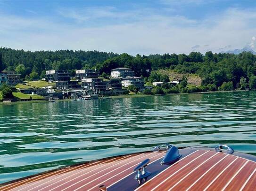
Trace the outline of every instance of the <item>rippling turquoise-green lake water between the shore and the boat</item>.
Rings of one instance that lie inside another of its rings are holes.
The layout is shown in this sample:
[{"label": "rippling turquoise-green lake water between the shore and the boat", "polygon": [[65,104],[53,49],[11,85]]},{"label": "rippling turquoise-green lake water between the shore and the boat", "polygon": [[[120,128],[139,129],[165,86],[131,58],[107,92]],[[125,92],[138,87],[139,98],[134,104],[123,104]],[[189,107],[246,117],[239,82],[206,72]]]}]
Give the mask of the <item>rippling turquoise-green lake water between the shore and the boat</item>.
[{"label": "rippling turquoise-green lake water between the shore and the boat", "polygon": [[0,183],[162,143],[256,154],[256,92],[0,105]]}]

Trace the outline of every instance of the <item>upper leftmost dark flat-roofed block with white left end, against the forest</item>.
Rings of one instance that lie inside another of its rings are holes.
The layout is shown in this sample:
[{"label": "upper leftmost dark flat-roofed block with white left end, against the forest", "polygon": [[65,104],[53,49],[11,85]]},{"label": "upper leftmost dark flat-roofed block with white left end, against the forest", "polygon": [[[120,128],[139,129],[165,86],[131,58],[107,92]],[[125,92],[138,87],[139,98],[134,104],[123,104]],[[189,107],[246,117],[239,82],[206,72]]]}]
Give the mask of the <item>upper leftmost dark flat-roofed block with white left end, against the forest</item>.
[{"label": "upper leftmost dark flat-roofed block with white left end, against the forest", "polygon": [[45,78],[48,82],[59,82],[70,80],[70,73],[68,70],[47,70],[45,71]]}]

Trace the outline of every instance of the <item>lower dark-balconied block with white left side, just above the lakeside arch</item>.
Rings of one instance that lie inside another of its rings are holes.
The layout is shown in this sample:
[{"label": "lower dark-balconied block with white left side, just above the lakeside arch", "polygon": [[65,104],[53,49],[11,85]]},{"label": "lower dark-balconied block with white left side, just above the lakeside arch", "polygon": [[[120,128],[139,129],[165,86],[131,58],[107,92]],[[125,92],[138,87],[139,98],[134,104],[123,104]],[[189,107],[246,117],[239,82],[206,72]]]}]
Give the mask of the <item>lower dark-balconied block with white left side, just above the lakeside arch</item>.
[{"label": "lower dark-balconied block with white left side, just above the lakeside arch", "polygon": [[106,91],[108,82],[100,78],[85,78],[82,79],[82,88],[95,90],[96,92]]}]

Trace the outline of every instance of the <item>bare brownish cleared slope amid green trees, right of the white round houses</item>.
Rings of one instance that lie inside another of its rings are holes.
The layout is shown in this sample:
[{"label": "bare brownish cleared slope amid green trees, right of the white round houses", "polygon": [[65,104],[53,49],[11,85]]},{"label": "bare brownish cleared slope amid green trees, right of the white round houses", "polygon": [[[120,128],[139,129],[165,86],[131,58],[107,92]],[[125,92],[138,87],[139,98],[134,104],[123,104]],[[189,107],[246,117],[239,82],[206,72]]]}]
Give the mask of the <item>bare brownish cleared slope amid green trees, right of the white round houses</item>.
[{"label": "bare brownish cleared slope amid green trees, right of the white round houses", "polygon": [[158,69],[156,70],[157,73],[165,74],[169,76],[170,80],[181,80],[182,77],[185,75],[188,78],[188,83],[193,85],[201,85],[202,79],[197,76],[196,74],[189,74],[189,73],[178,73],[173,70],[169,69]]}]

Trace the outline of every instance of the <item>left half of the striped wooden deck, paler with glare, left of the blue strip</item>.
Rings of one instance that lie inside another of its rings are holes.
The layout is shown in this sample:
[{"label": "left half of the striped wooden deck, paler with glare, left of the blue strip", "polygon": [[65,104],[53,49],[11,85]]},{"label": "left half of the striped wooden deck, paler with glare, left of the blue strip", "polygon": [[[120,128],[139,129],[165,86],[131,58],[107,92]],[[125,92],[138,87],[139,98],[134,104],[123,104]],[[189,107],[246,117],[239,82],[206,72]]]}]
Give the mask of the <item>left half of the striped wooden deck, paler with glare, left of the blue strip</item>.
[{"label": "left half of the striped wooden deck, paler with glare, left of the blue strip", "polygon": [[0,187],[1,191],[99,191],[99,185],[111,185],[130,175],[142,160],[154,162],[165,153],[139,153],[99,160]]}]

